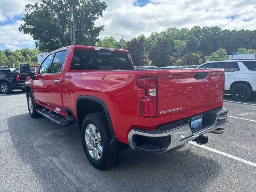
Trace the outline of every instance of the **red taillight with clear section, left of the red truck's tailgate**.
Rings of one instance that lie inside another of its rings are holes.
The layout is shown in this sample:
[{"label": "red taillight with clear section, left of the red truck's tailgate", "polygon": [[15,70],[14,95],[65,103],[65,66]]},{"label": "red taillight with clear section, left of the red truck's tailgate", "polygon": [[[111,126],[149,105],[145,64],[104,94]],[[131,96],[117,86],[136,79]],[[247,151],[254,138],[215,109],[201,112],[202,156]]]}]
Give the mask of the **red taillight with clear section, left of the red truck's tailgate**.
[{"label": "red taillight with clear section, left of the red truck's tailgate", "polygon": [[145,90],[145,96],[140,99],[140,114],[143,117],[156,117],[156,78],[139,78],[137,86]]}]

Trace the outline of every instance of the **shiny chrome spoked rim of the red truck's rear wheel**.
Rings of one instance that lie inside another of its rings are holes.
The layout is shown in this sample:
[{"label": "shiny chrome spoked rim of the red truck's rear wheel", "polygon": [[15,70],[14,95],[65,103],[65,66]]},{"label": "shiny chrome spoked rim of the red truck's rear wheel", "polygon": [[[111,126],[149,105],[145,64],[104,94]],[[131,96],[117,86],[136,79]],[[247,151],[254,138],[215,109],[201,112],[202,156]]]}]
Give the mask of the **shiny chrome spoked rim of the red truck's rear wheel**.
[{"label": "shiny chrome spoked rim of the red truck's rear wheel", "polygon": [[100,132],[94,124],[89,124],[85,130],[85,143],[90,155],[98,160],[102,156],[102,140]]}]

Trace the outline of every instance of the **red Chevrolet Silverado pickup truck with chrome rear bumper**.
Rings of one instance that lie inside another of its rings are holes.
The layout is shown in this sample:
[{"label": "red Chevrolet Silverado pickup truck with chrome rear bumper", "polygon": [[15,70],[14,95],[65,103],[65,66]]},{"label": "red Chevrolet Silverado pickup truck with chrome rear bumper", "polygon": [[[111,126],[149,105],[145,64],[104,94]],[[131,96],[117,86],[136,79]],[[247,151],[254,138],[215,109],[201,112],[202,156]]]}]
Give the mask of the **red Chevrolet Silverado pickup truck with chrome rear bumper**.
[{"label": "red Chevrolet Silverado pickup truck with chrome rear bumper", "polygon": [[21,64],[20,75],[30,116],[78,122],[98,169],[129,147],[164,152],[225,130],[224,69],[134,70],[128,50],[74,45],[48,54],[34,73]]}]

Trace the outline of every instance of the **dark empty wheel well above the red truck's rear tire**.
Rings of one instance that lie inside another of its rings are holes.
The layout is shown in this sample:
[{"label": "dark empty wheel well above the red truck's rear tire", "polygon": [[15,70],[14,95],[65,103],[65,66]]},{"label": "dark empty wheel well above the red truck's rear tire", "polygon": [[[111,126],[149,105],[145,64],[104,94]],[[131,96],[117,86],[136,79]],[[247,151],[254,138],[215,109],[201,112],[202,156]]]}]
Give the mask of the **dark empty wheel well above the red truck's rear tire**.
[{"label": "dark empty wheel well above the red truck's rear tire", "polygon": [[92,101],[92,100],[86,100],[86,99],[80,99],[78,100],[77,104],[77,117],[78,117],[78,124],[81,130],[82,122],[86,115],[94,112],[104,112],[104,108],[101,104],[98,102]]}]

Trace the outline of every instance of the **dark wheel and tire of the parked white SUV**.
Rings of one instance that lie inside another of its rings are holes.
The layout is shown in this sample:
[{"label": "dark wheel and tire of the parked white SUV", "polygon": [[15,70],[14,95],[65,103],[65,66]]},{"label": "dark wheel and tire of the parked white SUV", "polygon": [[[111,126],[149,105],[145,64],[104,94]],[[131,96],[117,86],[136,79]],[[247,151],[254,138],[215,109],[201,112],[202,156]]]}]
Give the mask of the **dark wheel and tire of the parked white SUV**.
[{"label": "dark wheel and tire of the parked white SUV", "polygon": [[247,101],[252,98],[252,89],[246,84],[236,84],[231,89],[231,96],[237,101]]}]

